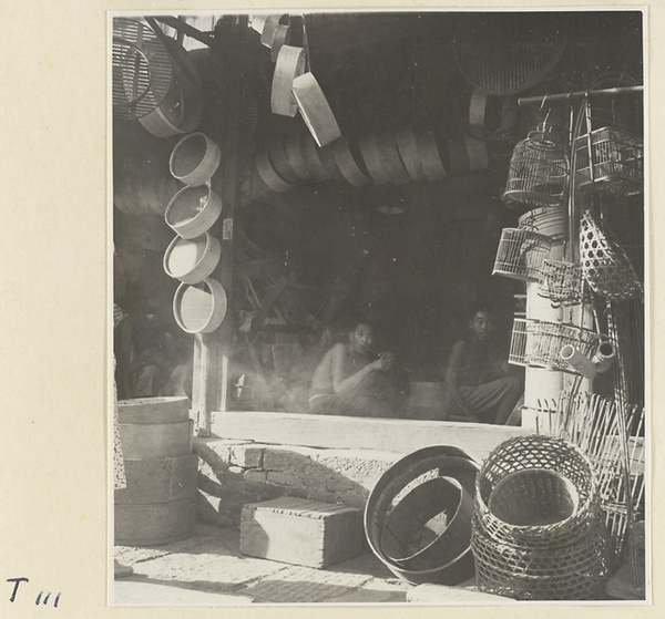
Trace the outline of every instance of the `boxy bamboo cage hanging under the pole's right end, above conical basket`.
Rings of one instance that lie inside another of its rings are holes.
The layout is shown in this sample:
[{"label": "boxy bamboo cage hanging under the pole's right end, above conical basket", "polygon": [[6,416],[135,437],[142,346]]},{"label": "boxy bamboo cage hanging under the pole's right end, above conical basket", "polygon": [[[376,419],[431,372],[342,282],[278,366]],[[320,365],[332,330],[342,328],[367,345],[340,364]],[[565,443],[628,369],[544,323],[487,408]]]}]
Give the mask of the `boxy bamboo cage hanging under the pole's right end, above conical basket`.
[{"label": "boxy bamboo cage hanging under the pole's right end, above conical basket", "polygon": [[642,140],[615,127],[601,127],[575,138],[575,178],[583,190],[632,196],[644,188]]}]

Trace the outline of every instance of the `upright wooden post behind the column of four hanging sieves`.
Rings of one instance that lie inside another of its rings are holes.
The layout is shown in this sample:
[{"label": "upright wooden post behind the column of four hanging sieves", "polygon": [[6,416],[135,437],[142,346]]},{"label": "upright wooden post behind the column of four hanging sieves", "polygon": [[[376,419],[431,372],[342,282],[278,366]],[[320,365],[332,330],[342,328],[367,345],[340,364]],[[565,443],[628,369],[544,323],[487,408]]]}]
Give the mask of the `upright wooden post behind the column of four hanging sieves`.
[{"label": "upright wooden post behind the column of four hanging sieves", "polygon": [[211,184],[222,198],[222,217],[211,233],[222,245],[222,257],[212,277],[219,281],[229,300],[226,318],[213,333],[196,336],[194,345],[194,380],[192,409],[197,420],[198,436],[209,436],[212,412],[226,411],[228,405],[229,359],[233,352],[235,324],[233,314],[234,216],[241,203],[239,130],[243,81],[237,64],[238,54],[227,53],[247,31],[241,16],[227,16],[217,22],[212,45],[212,72],[204,84],[207,90],[209,126],[205,128],[222,149],[222,161]]}]

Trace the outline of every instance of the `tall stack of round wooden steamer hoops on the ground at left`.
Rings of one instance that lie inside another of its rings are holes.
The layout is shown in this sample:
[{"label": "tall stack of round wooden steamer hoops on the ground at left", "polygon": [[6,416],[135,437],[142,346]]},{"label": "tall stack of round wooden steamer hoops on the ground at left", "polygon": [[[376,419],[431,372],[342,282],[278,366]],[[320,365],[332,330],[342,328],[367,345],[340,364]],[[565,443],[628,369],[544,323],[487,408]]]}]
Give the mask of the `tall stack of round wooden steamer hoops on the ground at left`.
[{"label": "tall stack of round wooden steamer hoops on the ground at left", "polygon": [[193,534],[198,457],[188,410],[187,398],[117,402],[126,487],[114,492],[115,544],[167,544]]}]

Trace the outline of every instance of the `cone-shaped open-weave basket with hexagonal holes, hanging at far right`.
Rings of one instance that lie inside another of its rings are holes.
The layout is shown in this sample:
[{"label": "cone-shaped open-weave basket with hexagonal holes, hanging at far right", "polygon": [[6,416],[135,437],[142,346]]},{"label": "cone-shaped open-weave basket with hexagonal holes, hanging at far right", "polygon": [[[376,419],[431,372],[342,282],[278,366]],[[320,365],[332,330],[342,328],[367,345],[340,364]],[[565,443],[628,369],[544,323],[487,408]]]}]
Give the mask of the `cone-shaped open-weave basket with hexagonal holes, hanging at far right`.
[{"label": "cone-shaped open-weave basket with hexagonal holes, hanging at far right", "polygon": [[582,216],[580,255],[582,274],[594,292],[614,301],[642,297],[642,283],[626,252],[591,210]]}]

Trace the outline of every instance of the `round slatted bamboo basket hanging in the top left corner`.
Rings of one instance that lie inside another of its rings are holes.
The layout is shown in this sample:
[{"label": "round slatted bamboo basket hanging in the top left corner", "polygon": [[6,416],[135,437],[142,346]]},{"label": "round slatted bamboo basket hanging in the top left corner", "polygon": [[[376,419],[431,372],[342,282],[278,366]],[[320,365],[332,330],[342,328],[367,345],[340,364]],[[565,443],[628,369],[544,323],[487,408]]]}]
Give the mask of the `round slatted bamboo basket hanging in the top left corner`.
[{"label": "round slatted bamboo basket hanging in the top left corner", "polygon": [[158,107],[174,83],[168,51],[140,21],[114,18],[112,44],[113,114],[141,118]]}]

